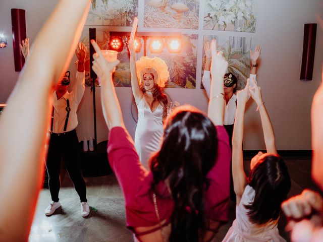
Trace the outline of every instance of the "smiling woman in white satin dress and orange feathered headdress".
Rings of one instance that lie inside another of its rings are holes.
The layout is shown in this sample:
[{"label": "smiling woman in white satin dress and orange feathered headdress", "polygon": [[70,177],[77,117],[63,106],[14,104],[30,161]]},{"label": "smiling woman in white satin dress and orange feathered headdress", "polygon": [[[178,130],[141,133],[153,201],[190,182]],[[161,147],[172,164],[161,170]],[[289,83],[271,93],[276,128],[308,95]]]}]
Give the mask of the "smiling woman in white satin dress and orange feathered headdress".
[{"label": "smiling woman in white satin dress and orange feathered headdress", "polygon": [[136,63],[133,43],[129,42],[128,48],[131,87],[138,108],[135,148],[142,165],[148,169],[148,159],[159,149],[163,136],[168,99],[161,88],[165,87],[169,72],[166,63],[158,57],[143,56]]}]

